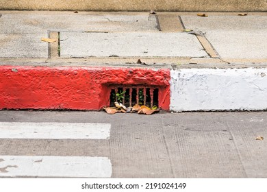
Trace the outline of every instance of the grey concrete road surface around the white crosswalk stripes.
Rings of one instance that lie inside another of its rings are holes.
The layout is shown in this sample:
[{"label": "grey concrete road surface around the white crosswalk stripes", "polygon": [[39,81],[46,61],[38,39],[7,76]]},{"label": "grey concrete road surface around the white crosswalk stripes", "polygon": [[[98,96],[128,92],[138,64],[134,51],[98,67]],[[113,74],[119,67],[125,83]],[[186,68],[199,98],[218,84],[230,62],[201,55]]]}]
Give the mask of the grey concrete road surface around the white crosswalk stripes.
[{"label": "grey concrete road surface around the white crosswalk stripes", "polygon": [[[160,112],[146,116],[2,110],[0,132],[3,122],[25,122],[28,126],[34,122],[75,123],[76,129],[79,123],[111,125],[109,139],[73,139],[73,134],[70,139],[1,138],[0,156],[6,161],[10,157],[18,161],[27,158],[28,162],[50,159],[56,169],[57,157],[68,160],[73,156],[74,164],[78,157],[90,157],[94,159],[90,166],[98,163],[97,157],[105,157],[110,159],[112,178],[267,178],[266,112]],[[40,127],[38,132],[45,129]],[[257,136],[264,140],[256,140]],[[10,172],[1,172],[1,177],[18,173],[16,167],[5,170]],[[104,173],[103,169],[98,176]],[[79,176],[78,171],[72,174]]]}]

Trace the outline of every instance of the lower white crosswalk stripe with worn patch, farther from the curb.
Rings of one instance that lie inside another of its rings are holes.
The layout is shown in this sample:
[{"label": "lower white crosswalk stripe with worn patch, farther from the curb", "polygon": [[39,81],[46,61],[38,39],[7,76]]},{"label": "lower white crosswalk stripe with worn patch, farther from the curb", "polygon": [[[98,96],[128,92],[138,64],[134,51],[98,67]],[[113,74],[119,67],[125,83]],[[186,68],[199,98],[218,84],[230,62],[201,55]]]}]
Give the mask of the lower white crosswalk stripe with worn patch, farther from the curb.
[{"label": "lower white crosswalk stripe with worn patch, farther from the curb", "polygon": [[0,156],[1,177],[110,178],[107,157],[88,156]]}]

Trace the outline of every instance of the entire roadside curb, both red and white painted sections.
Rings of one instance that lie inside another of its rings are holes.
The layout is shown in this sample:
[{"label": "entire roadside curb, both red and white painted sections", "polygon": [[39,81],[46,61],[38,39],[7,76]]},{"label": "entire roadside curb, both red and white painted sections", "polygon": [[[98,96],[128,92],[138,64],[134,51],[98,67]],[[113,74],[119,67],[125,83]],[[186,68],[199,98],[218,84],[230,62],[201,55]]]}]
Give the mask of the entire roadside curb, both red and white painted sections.
[{"label": "entire roadside curb, both red and white painted sections", "polygon": [[162,110],[266,110],[267,68],[0,67],[0,109],[100,110],[112,86],[157,86]]}]

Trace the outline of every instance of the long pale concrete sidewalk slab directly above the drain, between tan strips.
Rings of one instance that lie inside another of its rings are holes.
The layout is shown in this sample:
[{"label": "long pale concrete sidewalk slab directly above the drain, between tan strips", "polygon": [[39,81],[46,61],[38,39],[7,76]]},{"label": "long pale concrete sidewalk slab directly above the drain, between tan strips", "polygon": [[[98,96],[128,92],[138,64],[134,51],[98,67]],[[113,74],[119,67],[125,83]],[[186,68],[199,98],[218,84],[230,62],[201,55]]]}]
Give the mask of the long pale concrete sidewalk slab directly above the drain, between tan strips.
[{"label": "long pale concrete sidewalk slab directly above the drain, between tan strips", "polygon": [[60,56],[69,57],[205,57],[196,36],[186,33],[60,34]]}]

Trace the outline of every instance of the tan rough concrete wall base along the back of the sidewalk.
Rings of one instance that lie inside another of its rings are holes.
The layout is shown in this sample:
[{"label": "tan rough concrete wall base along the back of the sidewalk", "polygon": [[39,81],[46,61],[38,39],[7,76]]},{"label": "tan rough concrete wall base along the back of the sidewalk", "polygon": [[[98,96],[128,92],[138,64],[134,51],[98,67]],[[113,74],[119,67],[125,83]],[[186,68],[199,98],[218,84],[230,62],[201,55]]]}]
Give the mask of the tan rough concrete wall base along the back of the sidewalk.
[{"label": "tan rough concrete wall base along the back of the sidewalk", "polygon": [[264,0],[216,0],[182,1],[182,0],[21,0],[0,1],[2,10],[97,10],[97,11],[266,11]]}]

